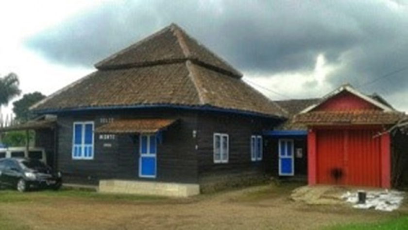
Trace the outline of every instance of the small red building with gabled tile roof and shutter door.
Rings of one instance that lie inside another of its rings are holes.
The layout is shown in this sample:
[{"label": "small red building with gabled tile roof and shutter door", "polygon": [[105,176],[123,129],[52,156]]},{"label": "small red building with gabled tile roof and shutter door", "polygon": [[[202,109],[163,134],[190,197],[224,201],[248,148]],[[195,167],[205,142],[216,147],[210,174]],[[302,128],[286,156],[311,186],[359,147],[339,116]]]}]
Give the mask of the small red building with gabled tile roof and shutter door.
[{"label": "small red building with gabled tile roof and shutter door", "polygon": [[341,86],[294,117],[306,124],[309,185],[391,187],[391,140],[404,116],[381,97]]}]

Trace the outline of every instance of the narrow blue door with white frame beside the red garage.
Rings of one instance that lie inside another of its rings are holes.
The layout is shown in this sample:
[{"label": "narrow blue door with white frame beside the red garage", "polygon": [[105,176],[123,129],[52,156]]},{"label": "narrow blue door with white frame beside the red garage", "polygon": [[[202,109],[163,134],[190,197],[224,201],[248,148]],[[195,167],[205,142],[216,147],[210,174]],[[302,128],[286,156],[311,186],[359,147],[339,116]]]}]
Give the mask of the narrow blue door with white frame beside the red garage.
[{"label": "narrow blue door with white frame beside the red garage", "polygon": [[293,140],[279,140],[279,176],[293,176],[294,169]]}]

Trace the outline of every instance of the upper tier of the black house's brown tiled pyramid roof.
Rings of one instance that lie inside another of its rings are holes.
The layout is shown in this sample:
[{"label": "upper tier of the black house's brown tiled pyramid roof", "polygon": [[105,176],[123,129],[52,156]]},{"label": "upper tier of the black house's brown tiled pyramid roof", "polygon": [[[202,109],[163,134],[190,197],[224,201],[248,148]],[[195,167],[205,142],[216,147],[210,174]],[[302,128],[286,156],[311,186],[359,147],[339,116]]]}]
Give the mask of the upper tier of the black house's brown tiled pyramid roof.
[{"label": "upper tier of the black house's brown tiled pyramid roof", "polygon": [[95,67],[100,70],[118,69],[174,63],[187,59],[238,78],[242,77],[239,71],[187,35],[176,24],[171,24],[136,44],[109,56],[97,63]]}]

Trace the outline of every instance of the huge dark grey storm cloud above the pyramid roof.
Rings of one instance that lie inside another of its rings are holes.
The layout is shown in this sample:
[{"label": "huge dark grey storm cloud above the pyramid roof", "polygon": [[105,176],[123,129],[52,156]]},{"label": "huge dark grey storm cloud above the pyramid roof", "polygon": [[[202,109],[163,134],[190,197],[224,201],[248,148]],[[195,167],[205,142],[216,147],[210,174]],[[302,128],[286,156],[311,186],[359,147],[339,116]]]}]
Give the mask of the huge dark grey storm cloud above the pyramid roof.
[{"label": "huge dark grey storm cloud above the pyramid roof", "polygon": [[[341,66],[327,83],[361,85],[408,66],[408,10],[398,8],[405,3],[115,1],[35,35],[26,45],[53,62],[91,66],[175,22],[240,71],[311,71],[323,53],[329,64]],[[405,78],[392,77],[399,81],[365,87],[380,93],[408,87]]]}]

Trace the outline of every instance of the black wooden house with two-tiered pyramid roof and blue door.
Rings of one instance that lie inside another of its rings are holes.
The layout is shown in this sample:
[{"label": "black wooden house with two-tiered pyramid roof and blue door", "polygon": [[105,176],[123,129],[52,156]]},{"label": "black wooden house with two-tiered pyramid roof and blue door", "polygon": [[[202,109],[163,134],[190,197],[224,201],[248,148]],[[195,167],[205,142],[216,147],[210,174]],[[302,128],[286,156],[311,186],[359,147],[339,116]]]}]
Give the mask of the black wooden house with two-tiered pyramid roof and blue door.
[{"label": "black wooden house with two-tiered pyramid roof and blue door", "polygon": [[57,116],[55,165],[66,182],[205,191],[265,174],[262,134],[285,111],[177,25],[95,67],[32,107]]}]

